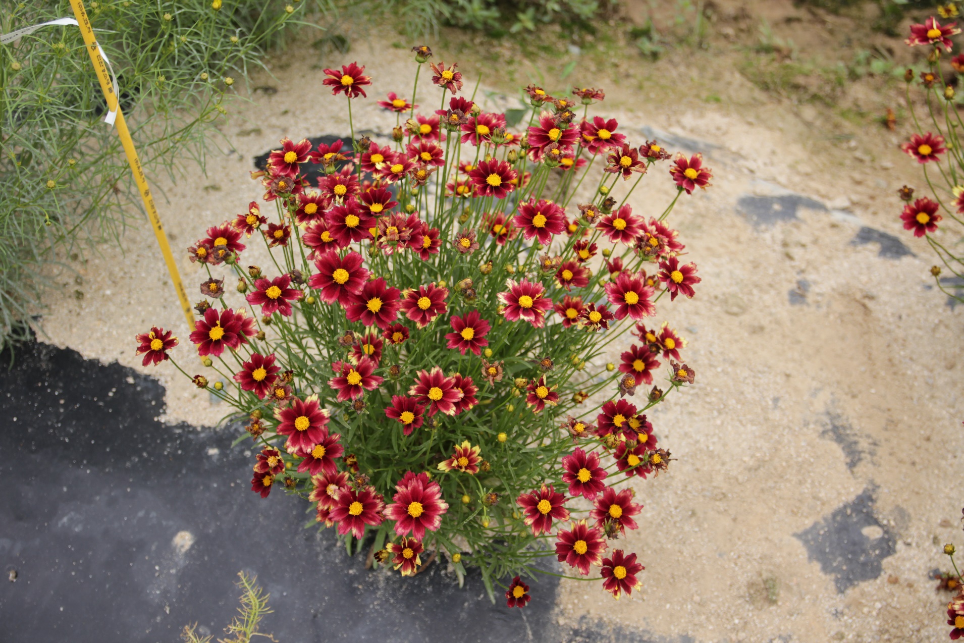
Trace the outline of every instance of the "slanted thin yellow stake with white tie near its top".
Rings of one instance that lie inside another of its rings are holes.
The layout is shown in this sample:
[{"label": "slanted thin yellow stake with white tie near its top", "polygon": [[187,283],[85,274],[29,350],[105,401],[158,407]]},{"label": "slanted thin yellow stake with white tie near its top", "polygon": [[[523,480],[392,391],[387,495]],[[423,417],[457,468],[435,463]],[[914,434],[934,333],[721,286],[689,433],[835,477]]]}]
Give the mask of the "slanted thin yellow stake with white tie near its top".
[{"label": "slanted thin yellow stake with white tie near its top", "polygon": [[114,93],[114,84],[111,82],[107,65],[104,64],[103,57],[100,55],[100,48],[94,38],[94,30],[91,28],[91,20],[84,11],[84,4],[81,0],[70,0],[70,7],[73,14],[77,17],[80,24],[80,33],[84,36],[84,43],[87,45],[87,53],[91,55],[91,62],[94,63],[94,70],[97,72],[97,80],[100,81],[100,89],[107,100],[107,109],[117,111],[117,118],[114,126],[117,127],[120,136],[120,145],[123,146],[124,154],[127,156],[127,163],[130,164],[130,171],[134,174],[134,182],[137,189],[141,192],[141,199],[144,201],[144,208],[147,210],[147,217],[150,218],[151,227],[154,228],[154,236],[157,237],[157,245],[161,247],[161,254],[164,255],[164,262],[168,264],[168,273],[171,274],[171,281],[174,283],[174,290],[177,291],[177,299],[180,300],[181,310],[184,319],[187,320],[188,329],[194,330],[194,311],[191,308],[191,301],[187,298],[184,290],[184,283],[177,272],[177,264],[174,262],[174,255],[171,254],[171,246],[168,244],[168,235],[164,232],[161,224],[161,217],[157,214],[157,206],[154,205],[154,197],[150,194],[147,187],[147,177],[144,175],[144,168],[141,167],[141,159],[137,156],[134,148],[134,141],[130,138],[130,130],[127,123],[123,120],[123,112],[120,111],[118,95]]}]

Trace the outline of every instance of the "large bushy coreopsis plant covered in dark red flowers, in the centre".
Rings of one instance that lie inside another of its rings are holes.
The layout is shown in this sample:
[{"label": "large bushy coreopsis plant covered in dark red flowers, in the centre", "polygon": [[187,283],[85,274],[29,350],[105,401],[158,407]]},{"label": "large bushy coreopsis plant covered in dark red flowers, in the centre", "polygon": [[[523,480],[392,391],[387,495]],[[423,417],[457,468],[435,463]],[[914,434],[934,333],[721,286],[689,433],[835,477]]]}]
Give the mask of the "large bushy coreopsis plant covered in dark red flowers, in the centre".
[{"label": "large bushy coreopsis plant covered in dark red flowers, in the centre", "polygon": [[[416,79],[430,57],[415,47]],[[364,67],[325,71],[349,106],[374,91]],[[643,567],[617,540],[642,504],[627,483],[669,466],[648,414],[694,377],[656,317],[700,282],[668,217],[710,171],[590,117],[601,90],[530,86],[529,126],[511,132],[461,94],[457,65],[431,72],[440,109],[389,93],[390,141],[282,140],[255,173],[264,203],[189,249],[210,301],[190,335],[209,372],[193,379],[246,424],[252,490],[301,496],[349,553],[371,537],[375,564],[411,576],[442,552],[493,598],[514,576],[513,606],[543,556],[630,594]],[[626,201],[651,172],[677,192],[644,216]],[[248,265],[252,243],[270,264]],[[177,340],[138,341],[147,364]],[[601,363],[614,342],[619,364]]]}]

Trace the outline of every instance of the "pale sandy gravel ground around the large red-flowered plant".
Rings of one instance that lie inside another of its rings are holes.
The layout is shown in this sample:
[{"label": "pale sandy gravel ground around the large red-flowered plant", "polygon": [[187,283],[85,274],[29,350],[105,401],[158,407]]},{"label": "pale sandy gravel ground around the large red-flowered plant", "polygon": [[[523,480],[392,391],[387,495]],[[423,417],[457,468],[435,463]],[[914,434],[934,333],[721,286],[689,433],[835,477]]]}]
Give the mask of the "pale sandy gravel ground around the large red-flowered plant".
[{"label": "pale sandy gravel ground around the large red-flowered plant", "polygon": [[[355,59],[375,79],[370,96],[411,93],[407,52],[362,44],[345,62]],[[176,248],[259,198],[252,157],[282,136],[347,133],[344,99],[322,89],[315,62],[289,59],[277,79],[255,83],[277,94],[228,105],[234,149],[213,156],[206,176],[188,168],[158,185]],[[746,86],[734,73],[733,94]],[[499,100],[505,88],[493,89]],[[694,300],[660,311],[689,340],[697,386],[654,418],[678,461],[634,483],[646,508],[623,546],[646,566],[642,591],[614,602],[564,581],[560,623],[602,619],[660,641],[941,640],[947,597],[927,574],[944,565],[940,545],[960,536],[964,338],[961,312],[928,289],[928,249],[898,226],[895,191],[920,182],[916,168],[890,133],[854,148],[817,140],[813,113],[727,100],[671,110],[641,106],[634,89],[608,94],[603,112],[631,140],[650,127],[672,149],[702,149],[715,174],[672,217],[703,283]],[[436,109],[427,82],[419,96]],[[359,104],[356,122],[390,131],[394,118],[374,99]],[[668,174],[654,172],[630,202],[651,214],[671,194]],[[854,242],[874,238],[883,246]],[[124,253],[105,249],[56,276],[44,341],[137,368],[136,332],[157,324],[187,341],[147,225],[127,233]],[[179,256],[197,291],[206,276]],[[150,372],[168,388],[171,420],[212,424],[225,413],[174,368]]]}]

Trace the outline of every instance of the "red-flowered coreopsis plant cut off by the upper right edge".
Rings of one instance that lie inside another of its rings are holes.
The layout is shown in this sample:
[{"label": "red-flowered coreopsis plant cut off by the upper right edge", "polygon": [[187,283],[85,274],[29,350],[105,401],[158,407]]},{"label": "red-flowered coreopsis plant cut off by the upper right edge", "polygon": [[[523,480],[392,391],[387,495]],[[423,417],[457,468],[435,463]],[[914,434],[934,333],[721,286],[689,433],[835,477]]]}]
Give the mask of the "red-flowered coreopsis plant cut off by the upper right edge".
[{"label": "red-flowered coreopsis plant cut off by the upper right edge", "polygon": [[[958,111],[954,84],[946,82],[953,74],[958,78],[964,74],[964,54],[951,57],[950,76],[944,75],[941,63],[953,50],[951,37],[960,32],[954,22],[942,25],[937,18],[929,17],[923,24],[911,25],[910,37],[905,40],[909,46],[930,48],[927,68],[920,75],[912,69],[904,74],[907,105],[917,131],[900,146],[920,164],[929,194],[916,199],[914,189],[905,185],[898,195],[904,201],[899,215],[903,227],[916,237],[924,237],[940,259],[940,265],[930,269],[935,284],[964,303],[959,289],[964,283],[964,251],[959,241],[964,232],[964,152],[958,131],[964,121]],[[915,84],[924,92],[925,111],[915,109],[910,94]],[[956,280],[942,279],[944,270],[950,271]]]}]

